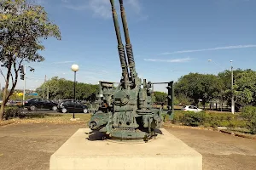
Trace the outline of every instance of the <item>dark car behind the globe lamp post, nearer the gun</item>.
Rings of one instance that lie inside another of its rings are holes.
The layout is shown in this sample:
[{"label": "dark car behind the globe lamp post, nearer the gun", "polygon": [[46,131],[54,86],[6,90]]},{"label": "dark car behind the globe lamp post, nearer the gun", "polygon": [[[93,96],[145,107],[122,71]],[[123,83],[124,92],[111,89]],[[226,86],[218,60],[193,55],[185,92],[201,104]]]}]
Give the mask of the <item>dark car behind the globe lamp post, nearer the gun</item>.
[{"label": "dark car behind the globe lamp post, nearer the gun", "polygon": [[84,112],[88,113],[88,107],[86,105],[81,104],[78,101],[74,101],[73,99],[64,99],[60,105],[58,105],[58,110],[62,113],[67,112]]}]

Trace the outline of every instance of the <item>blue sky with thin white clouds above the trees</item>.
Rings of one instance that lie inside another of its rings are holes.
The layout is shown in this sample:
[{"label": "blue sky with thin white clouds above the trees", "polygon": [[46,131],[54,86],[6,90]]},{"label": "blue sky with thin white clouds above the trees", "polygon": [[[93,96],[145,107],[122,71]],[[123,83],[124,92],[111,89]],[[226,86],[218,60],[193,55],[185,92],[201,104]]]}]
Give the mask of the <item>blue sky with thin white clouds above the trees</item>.
[{"label": "blue sky with thin white clouds above the trees", "polygon": [[[121,67],[109,0],[36,0],[59,26],[61,41],[43,41],[45,61],[28,63],[27,89],[46,75],[77,81],[119,82]],[[119,1],[115,1],[119,14]],[[177,81],[189,72],[256,70],[256,0],[124,0],[138,76]],[[125,45],[119,15],[119,26]],[[208,59],[212,59],[211,62]],[[232,60],[232,63],[230,63]],[[3,77],[1,77],[3,86]],[[19,80],[17,88],[23,88]],[[166,85],[154,90],[166,92]]]}]

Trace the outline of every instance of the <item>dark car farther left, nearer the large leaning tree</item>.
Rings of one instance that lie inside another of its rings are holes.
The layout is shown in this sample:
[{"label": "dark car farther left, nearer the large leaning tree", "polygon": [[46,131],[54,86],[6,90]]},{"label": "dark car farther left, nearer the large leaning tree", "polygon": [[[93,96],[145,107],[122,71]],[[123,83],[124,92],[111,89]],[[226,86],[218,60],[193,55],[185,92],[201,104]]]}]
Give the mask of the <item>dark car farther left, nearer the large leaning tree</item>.
[{"label": "dark car farther left, nearer the large leaning tree", "polygon": [[29,111],[37,110],[37,109],[47,109],[56,111],[58,109],[58,104],[55,102],[50,101],[49,99],[42,99],[42,98],[32,98],[27,99],[25,101],[25,108]]}]

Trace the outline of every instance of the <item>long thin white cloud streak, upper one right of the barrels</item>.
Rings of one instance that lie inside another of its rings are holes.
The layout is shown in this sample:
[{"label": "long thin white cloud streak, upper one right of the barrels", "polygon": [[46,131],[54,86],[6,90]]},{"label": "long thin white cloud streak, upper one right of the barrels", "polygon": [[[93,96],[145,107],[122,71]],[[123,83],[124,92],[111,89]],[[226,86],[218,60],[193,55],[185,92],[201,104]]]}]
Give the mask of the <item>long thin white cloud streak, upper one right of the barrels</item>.
[{"label": "long thin white cloud streak, upper one right of the barrels", "polygon": [[167,54],[183,54],[183,53],[195,53],[201,51],[216,51],[216,50],[223,50],[223,49],[234,49],[234,48],[256,48],[256,45],[236,45],[236,46],[226,46],[226,47],[218,47],[218,48],[205,48],[205,49],[194,49],[194,50],[183,50],[183,51],[174,51],[171,53],[163,53],[161,55]]}]

